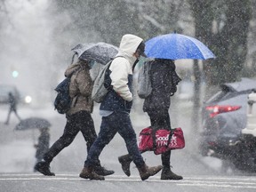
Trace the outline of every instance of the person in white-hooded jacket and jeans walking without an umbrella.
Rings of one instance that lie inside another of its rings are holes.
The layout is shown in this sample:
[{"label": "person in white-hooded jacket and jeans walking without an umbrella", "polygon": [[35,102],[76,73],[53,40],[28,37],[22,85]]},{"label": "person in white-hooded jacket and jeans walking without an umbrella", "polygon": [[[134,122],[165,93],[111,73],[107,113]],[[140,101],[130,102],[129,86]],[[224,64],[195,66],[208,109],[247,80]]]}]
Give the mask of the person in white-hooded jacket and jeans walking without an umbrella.
[{"label": "person in white-hooded jacket and jeans walking without an umbrella", "polygon": [[141,180],[147,180],[162,169],[161,165],[148,167],[145,164],[137,146],[136,133],[129,115],[132,108],[132,70],[140,55],[144,55],[144,49],[145,44],[139,36],[126,34],[122,37],[119,52],[107,71],[109,75],[105,76],[110,90],[100,104],[100,132],[84,162],[81,178],[105,180],[95,172],[95,165],[101,151],[114,138],[116,132],[124,139],[128,153],[140,172]]}]

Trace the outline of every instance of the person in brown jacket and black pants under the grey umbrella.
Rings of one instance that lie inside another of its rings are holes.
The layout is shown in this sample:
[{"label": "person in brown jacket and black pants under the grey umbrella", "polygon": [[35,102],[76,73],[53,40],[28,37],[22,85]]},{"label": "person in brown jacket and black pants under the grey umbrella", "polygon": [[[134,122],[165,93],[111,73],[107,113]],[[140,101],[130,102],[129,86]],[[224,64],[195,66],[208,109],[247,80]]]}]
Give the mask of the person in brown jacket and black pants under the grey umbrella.
[{"label": "person in brown jacket and black pants under the grey umbrella", "polygon": [[[78,132],[82,132],[87,145],[87,152],[97,138],[92,120],[92,77],[90,76],[91,62],[80,60],[70,65],[65,76],[71,76],[69,95],[72,98],[71,108],[66,113],[67,123],[59,140],[44,154],[42,161],[35,165],[35,170],[44,175],[54,176],[50,171],[50,164],[63,148],[67,148],[76,138]],[[114,171],[106,170],[100,165],[100,160],[95,163],[95,172],[99,175],[113,174]]]}]

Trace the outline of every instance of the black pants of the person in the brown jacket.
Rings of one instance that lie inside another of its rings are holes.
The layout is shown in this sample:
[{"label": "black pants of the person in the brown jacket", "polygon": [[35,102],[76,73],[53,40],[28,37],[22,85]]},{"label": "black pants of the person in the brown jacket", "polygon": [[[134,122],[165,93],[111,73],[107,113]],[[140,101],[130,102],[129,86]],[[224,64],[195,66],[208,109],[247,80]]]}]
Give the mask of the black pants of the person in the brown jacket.
[{"label": "black pants of the person in the brown jacket", "polygon": [[[87,111],[79,111],[72,116],[67,117],[67,124],[64,132],[59,140],[44,154],[44,161],[49,164],[54,156],[57,156],[63,148],[68,147],[76,138],[78,132],[82,132],[87,145],[87,153],[92,146],[92,143],[97,138],[92,116]],[[100,161],[98,163],[100,165]]]}]

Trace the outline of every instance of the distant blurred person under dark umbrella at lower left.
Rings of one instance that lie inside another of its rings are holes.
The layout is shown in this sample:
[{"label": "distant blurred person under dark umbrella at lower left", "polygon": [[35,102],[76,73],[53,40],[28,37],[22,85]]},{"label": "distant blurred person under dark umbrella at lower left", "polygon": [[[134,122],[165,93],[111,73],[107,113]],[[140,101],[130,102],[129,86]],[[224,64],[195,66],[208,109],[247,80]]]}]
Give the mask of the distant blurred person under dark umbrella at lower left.
[{"label": "distant blurred person under dark umbrella at lower left", "polygon": [[[39,129],[39,131],[40,135],[38,137],[37,144],[34,145],[34,147],[36,148],[36,164],[44,158],[44,153],[47,152],[50,145],[49,128],[44,127]],[[34,171],[36,172],[36,170]]]}]

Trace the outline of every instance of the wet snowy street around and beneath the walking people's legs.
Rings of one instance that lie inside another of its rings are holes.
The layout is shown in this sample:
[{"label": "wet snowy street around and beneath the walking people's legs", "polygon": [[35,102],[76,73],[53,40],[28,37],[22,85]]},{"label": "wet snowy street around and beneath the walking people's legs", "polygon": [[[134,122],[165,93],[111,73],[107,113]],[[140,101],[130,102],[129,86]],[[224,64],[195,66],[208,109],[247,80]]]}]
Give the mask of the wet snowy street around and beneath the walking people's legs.
[{"label": "wet snowy street around and beneath the walking people's legs", "polygon": [[[178,103],[177,103],[178,105]],[[79,178],[84,159],[87,155],[86,145],[82,134],[79,133],[74,142],[56,156],[51,164],[55,177],[46,177],[33,172],[36,163],[36,143],[39,132],[15,131],[13,128],[19,121],[11,116],[11,124],[5,125],[7,106],[0,109],[0,192],[41,192],[41,191],[255,191],[256,175],[227,168],[221,169],[221,162],[212,157],[198,155],[196,141],[198,134],[191,128],[191,109],[182,105],[179,110],[172,104],[172,126],[183,129],[186,146],[180,150],[172,151],[172,171],[183,176],[183,180],[160,180],[161,172],[148,180],[141,181],[135,165],[131,165],[131,177],[126,177],[117,161],[117,157],[126,154],[124,140],[116,135],[100,155],[100,161],[107,169],[114,170],[113,175],[105,177],[104,181],[83,180]],[[179,105],[180,106],[180,105]],[[140,103],[134,104],[131,113],[132,124],[139,134],[140,130],[149,124],[148,116],[143,114]],[[135,112],[136,111],[136,112]],[[179,111],[179,112],[178,112]],[[183,111],[180,113],[180,111]],[[20,107],[18,113],[22,118],[40,116],[49,120],[51,126],[51,145],[57,140],[64,128],[66,118],[53,110],[51,104],[44,108]],[[92,114],[96,131],[99,132],[100,117],[99,106],[95,106]],[[161,156],[153,152],[142,155],[149,166],[161,164]],[[46,189],[46,190],[45,190]]]}]

